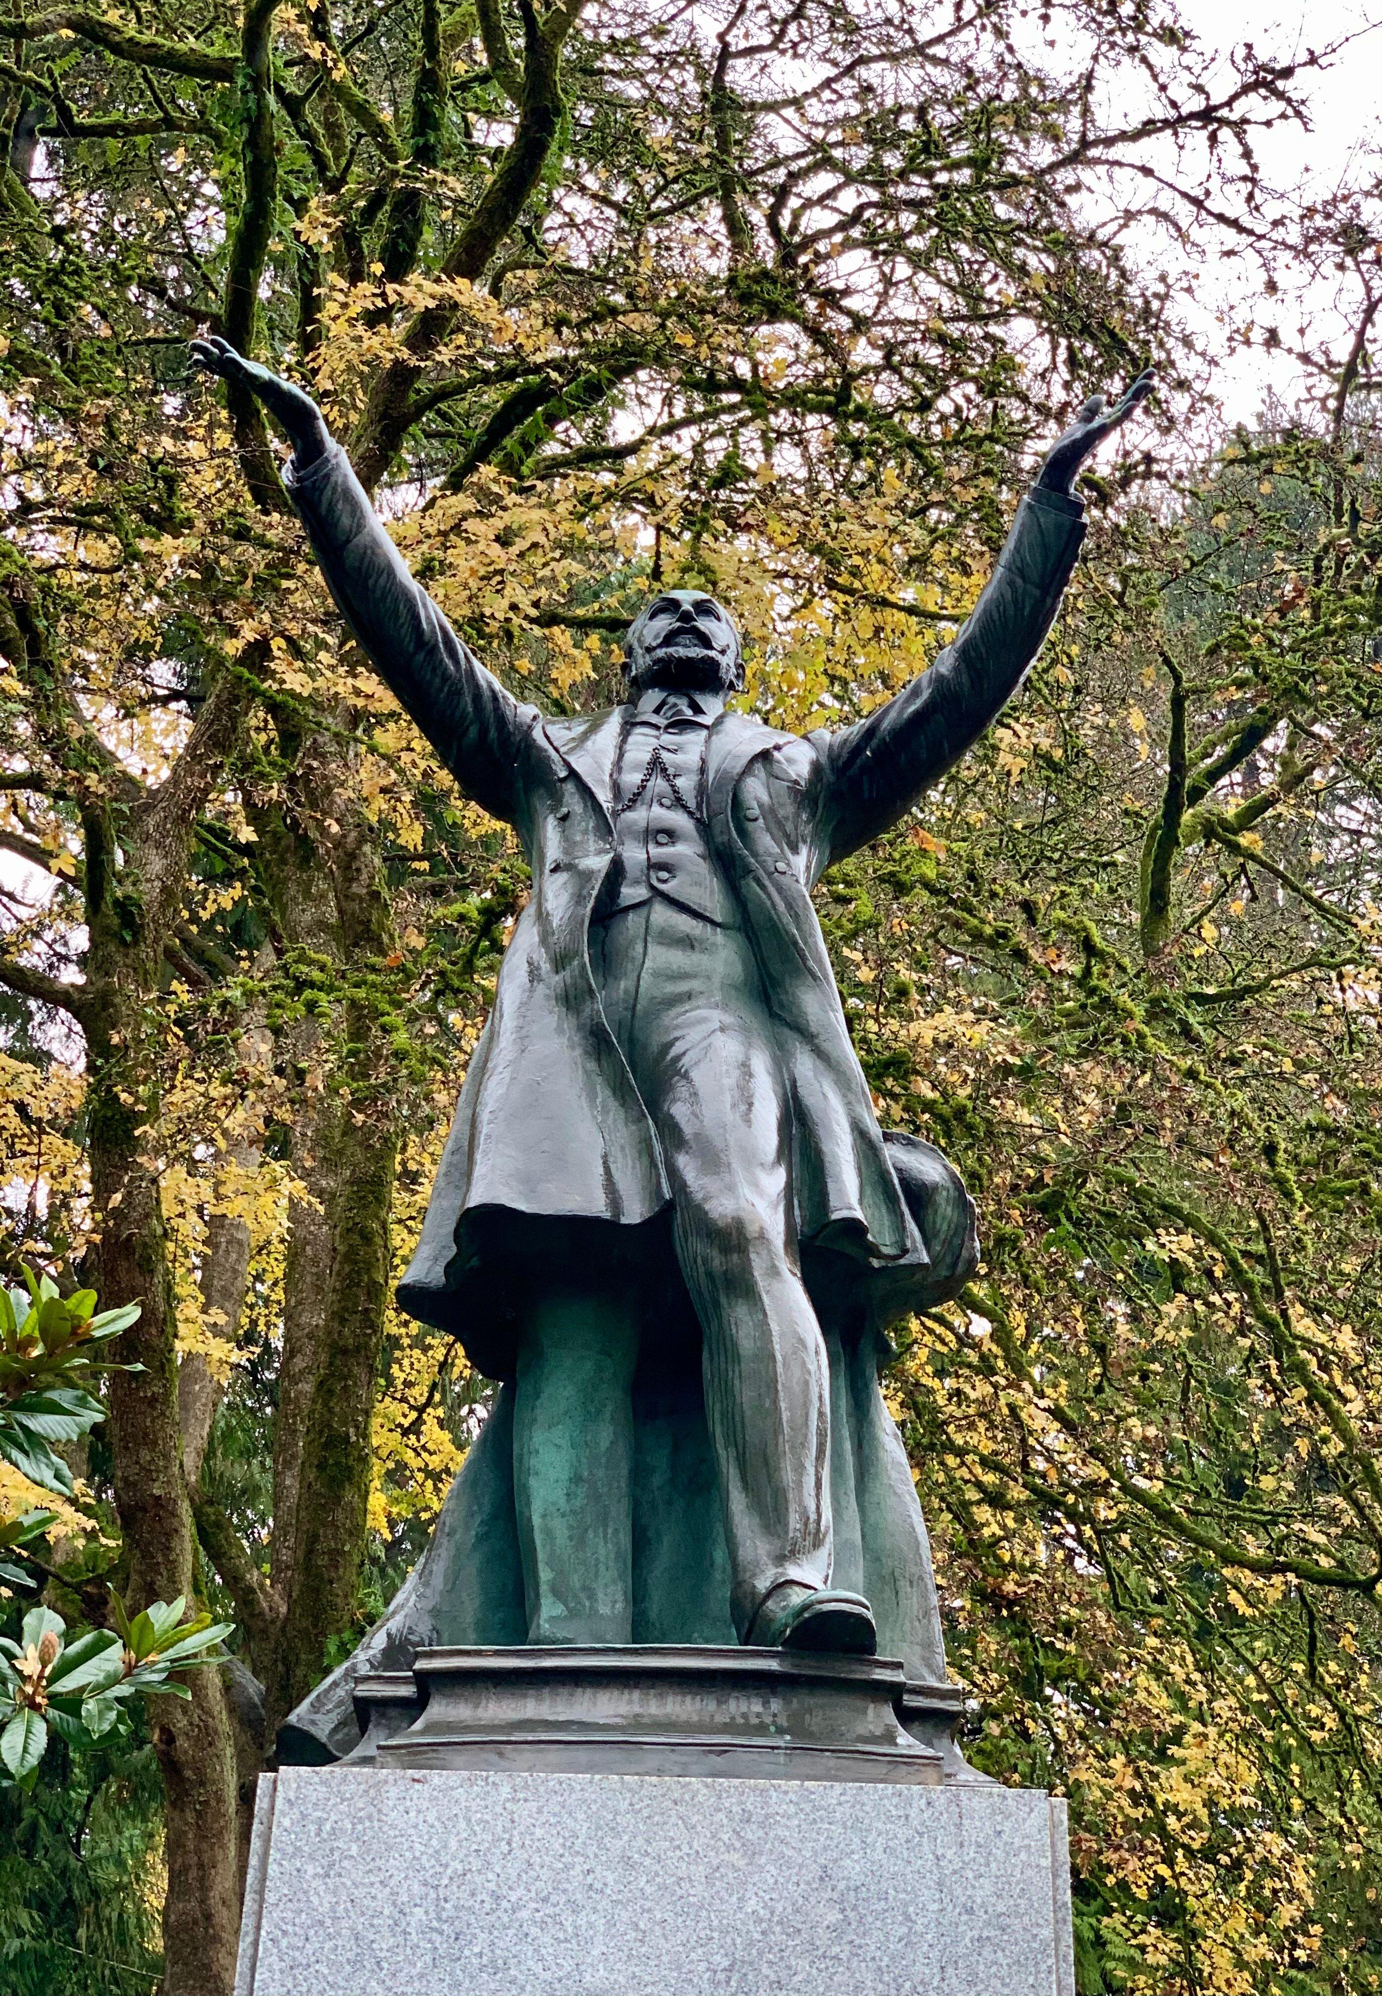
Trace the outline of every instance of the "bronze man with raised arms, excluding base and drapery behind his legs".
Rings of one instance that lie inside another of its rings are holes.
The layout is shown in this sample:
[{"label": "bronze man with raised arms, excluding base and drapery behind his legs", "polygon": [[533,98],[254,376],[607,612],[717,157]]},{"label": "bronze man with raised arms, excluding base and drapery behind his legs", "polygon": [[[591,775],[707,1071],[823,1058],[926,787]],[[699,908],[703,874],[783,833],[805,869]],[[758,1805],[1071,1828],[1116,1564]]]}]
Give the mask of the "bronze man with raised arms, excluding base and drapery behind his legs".
[{"label": "bronze man with raised arms, excluding base and drapery behind his legs", "polygon": [[1048,453],[937,663],[863,721],[801,739],[727,707],[739,635],[697,591],[661,591],[633,623],[621,707],[569,721],[513,699],[409,577],[312,399],[222,339],[192,351],[286,429],[288,485],[342,615],[531,864],[399,1289],[511,1383],[521,1603],[499,1615],[507,1637],[471,1639],[671,1639],[665,1607],[639,1601],[695,1595],[697,1553],[675,1579],[639,1581],[639,1559],[651,1575],[663,1553],[639,1553],[627,1491],[653,1477],[639,1391],[655,1385],[659,1339],[671,1351],[689,1325],[733,1631],[871,1653],[871,1601],[833,1585],[845,1387],[827,1343],[861,1299],[877,1329],[953,1291],[975,1249],[955,1174],[879,1130],[811,888],[895,824],[1021,683],[1084,533],[1072,477],[1150,377],[1116,407],[1088,401]]}]

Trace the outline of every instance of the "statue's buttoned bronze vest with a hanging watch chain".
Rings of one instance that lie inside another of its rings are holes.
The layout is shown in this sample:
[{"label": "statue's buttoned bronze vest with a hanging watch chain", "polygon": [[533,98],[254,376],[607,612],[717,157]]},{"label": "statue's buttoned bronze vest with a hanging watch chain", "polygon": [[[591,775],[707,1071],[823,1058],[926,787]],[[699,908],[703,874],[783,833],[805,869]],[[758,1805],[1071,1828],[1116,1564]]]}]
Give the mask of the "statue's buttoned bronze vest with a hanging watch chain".
[{"label": "statue's buttoned bronze vest with a hanging watch chain", "polygon": [[701,816],[707,735],[705,725],[657,715],[631,725],[615,780],[615,864],[597,920],[659,894],[721,928],[739,926]]}]

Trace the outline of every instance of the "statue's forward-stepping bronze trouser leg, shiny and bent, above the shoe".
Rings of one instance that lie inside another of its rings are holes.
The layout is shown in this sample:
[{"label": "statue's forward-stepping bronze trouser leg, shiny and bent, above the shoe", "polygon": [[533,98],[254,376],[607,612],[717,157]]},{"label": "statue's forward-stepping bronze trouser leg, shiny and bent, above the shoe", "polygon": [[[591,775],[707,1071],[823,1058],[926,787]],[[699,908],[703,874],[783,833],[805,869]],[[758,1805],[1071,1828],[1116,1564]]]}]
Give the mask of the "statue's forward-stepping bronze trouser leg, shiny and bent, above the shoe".
[{"label": "statue's forward-stepping bronze trouser leg, shiny and bent, above the shoe", "polygon": [[661,1142],[701,1321],[743,1637],[783,1581],[831,1581],[829,1379],[801,1281],[773,1026],[747,938],[661,900],[605,924],[597,976]]}]

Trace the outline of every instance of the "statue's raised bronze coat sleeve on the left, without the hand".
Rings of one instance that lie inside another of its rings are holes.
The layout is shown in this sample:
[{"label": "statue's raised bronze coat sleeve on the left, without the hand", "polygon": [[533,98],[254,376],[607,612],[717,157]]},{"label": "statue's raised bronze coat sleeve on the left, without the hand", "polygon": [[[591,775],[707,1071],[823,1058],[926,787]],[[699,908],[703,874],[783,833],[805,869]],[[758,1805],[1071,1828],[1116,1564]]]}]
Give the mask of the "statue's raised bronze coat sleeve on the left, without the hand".
[{"label": "statue's raised bronze coat sleeve on the left, without the hand", "polygon": [[515,814],[515,760],[537,711],[487,673],[413,581],[340,443],[284,483],[336,607],[461,788]]}]

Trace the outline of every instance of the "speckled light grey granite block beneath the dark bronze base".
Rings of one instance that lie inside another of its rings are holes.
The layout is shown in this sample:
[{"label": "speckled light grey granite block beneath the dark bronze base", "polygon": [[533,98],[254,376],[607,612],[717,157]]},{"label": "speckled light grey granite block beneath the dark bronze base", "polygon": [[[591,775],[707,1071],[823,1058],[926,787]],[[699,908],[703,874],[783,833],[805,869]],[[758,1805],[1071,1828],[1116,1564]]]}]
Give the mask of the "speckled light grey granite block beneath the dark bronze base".
[{"label": "speckled light grey granite block beneath the dark bronze base", "polygon": [[238,1996],[1074,1996],[1064,1804],[969,1782],[260,1780]]}]

